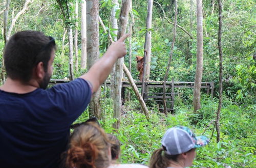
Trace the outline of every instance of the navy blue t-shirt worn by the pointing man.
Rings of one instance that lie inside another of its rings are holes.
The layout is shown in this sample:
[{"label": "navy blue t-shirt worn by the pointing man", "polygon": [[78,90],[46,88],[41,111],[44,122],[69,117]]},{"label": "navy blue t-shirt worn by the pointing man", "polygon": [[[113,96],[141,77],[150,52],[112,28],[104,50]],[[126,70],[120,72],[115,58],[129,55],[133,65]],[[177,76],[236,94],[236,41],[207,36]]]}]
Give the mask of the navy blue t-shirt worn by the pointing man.
[{"label": "navy blue t-shirt worn by the pointing man", "polygon": [[26,94],[0,90],[0,166],[58,167],[91,94],[81,78]]}]

